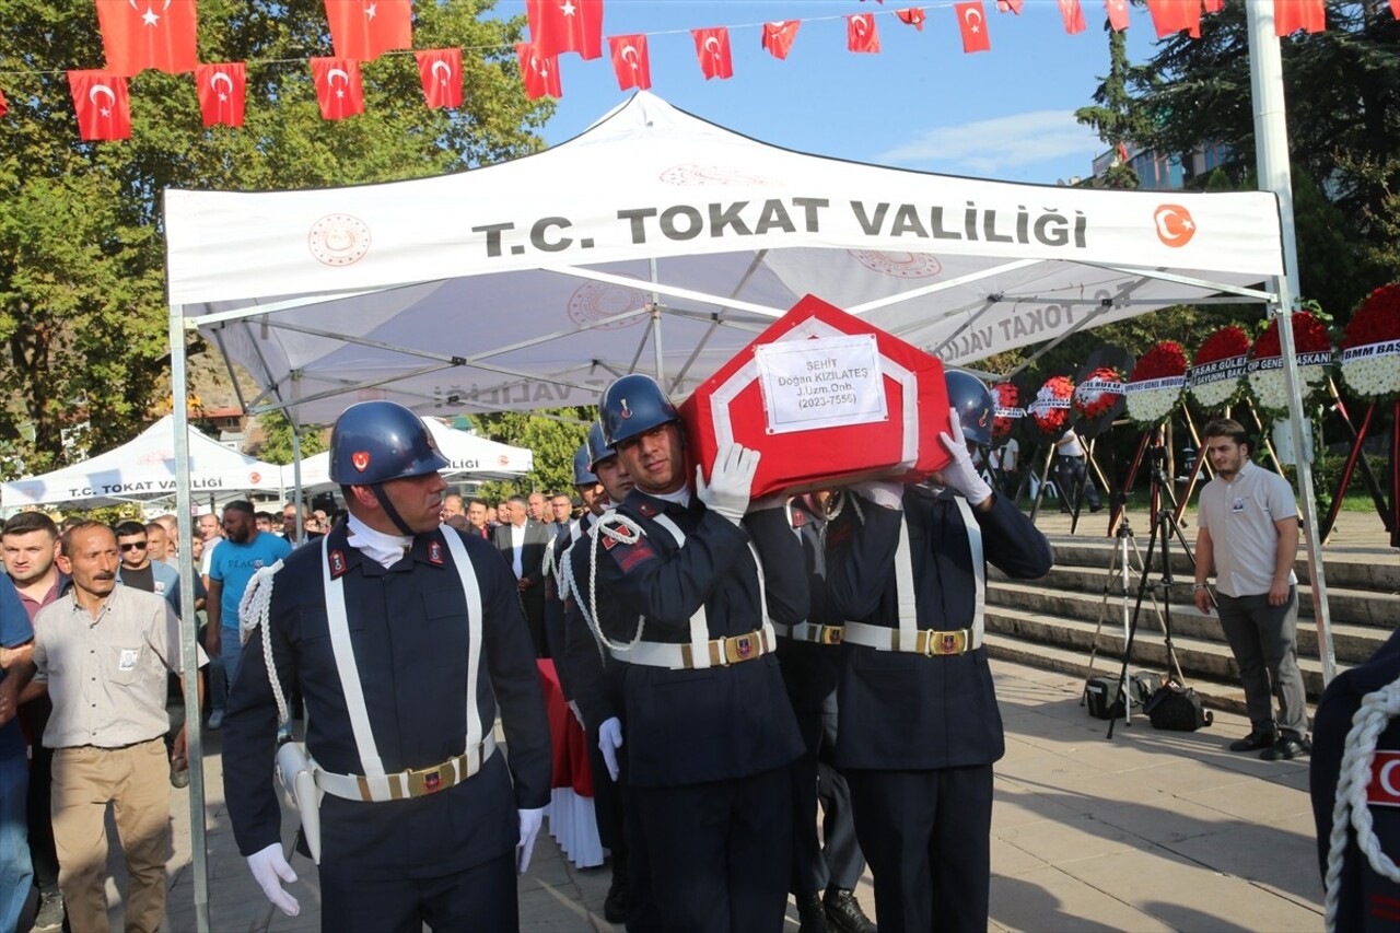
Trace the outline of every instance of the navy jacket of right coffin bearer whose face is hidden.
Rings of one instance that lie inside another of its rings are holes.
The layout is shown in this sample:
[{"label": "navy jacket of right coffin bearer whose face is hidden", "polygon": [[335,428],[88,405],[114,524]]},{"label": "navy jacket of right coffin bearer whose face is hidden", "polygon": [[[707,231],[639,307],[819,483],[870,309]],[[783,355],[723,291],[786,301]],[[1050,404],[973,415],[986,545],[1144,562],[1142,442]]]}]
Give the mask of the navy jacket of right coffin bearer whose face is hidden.
[{"label": "navy jacket of right coffin bearer whose face is hidden", "polygon": [[[827,528],[827,590],[847,619],[899,628],[895,551],[899,523],[909,523],[920,629],[973,625],[974,579],[962,513],[952,492],[904,486],[897,513],[860,502],[865,521],[847,507]],[[1009,500],[973,510],[983,555],[1007,576],[1032,580],[1054,560],[1050,544]],[[988,765],[1005,752],[1001,713],[987,649],[949,657],[878,651],[846,644],[839,692],[837,768],[928,770]]]}]

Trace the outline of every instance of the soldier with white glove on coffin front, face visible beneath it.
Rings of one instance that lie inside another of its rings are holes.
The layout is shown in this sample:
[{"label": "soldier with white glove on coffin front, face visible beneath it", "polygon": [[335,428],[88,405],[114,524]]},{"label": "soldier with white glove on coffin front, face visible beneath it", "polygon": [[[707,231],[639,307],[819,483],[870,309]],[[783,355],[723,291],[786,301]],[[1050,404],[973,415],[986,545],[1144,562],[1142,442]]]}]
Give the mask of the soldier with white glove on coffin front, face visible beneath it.
[{"label": "soldier with white glove on coffin front, face visible beneath it", "polygon": [[627,663],[623,740],[662,926],[781,930],[802,738],[769,616],[808,612],[784,500],[745,517],[757,454],[736,445],[692,488],[676,409],[645,375],[613,381],[599,409],[636,483],[599,527],[616,604],[599,622]]}]

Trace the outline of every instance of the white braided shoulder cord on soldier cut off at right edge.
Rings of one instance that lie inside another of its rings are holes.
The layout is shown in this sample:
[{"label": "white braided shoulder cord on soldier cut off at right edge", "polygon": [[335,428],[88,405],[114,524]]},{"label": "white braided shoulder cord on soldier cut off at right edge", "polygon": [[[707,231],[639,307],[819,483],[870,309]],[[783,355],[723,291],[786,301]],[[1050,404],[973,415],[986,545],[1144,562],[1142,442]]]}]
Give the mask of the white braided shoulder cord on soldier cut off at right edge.
[{"label": "white braided shoulder cord on soldier cut off at right edge", "polygon": [[[1355,716],[1351,717],[1351,731],[1347,733],[1347,751],[1337,770],[1337,799],[1331,808],[1331,836],[1327,849],[1327,930],[1337,929],[1338,894],[1341,888],[1341,863],[1347,852],[1347,827],[1357,829],[1357,848],[1366,856],[1371,867],[1392,881],[1400,883],[1400,869],[1380,850],[1380,841],[1372,827],[1371,807],[1366,806],[1366,786],[1371,783],[1371,765],[1376,754],[1376,738],[1385,731],[1390,719],[1400,713],[1400,679],[1386,684],[1373,693],[1366,693]],[[1350,820],[1348,820],[1348,813]]]}]

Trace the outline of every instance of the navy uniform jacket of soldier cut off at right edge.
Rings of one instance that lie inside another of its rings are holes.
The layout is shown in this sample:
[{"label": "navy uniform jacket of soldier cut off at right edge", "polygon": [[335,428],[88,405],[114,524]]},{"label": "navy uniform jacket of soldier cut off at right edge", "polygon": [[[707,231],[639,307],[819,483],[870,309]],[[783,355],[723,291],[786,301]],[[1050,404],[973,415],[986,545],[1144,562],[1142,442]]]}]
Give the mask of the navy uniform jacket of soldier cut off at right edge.
[{"label": "navy uniform jacket of soldier cut off at right edge", "polygon": [[[1369,661],[1333,678],[1323,691],[1313,716],[1313,749],[1310,793],[1313,821],[1317,824],[1317,860],[1323,878],[1327,877],[1327,849],[1331,845],[1331,808],[1337,799],[1337,773],[1345,751],[1351,717],[1361,709],[1366,693],[1379,691],[1400,677],[1400,632],[1380,646]],[[1400,719],[1376,737],[1376,752],[1400,751]],[[1400,783],[1392,779],[1392,785]],[[1400,859],[1400,808],[1378,806],[1371,808],[1372,832],[1380,850],[1392,860]],[[1371,867],[1371,862],[1357,848],[1357,832],[1348,832],[1343,860],[1337,902],[1338,930],[1394,930],[1400,926],[1400,884],[1387,880]]]}]

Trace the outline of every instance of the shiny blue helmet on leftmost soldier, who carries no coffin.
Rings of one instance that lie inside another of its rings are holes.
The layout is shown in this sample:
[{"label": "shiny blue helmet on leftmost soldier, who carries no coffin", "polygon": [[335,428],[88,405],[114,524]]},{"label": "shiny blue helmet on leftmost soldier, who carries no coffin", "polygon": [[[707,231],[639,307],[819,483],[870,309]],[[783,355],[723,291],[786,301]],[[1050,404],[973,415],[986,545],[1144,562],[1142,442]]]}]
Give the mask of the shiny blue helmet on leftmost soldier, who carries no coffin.
[{"label": "shiny blue helmet on leftmost soldier, who carries no coffin", "polygon": [[434,474],[447,457],[417,415],[398,402],[358,402],[330,431],[330,482],[371,486]]}]

